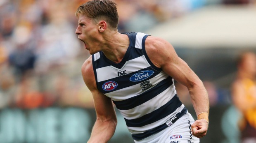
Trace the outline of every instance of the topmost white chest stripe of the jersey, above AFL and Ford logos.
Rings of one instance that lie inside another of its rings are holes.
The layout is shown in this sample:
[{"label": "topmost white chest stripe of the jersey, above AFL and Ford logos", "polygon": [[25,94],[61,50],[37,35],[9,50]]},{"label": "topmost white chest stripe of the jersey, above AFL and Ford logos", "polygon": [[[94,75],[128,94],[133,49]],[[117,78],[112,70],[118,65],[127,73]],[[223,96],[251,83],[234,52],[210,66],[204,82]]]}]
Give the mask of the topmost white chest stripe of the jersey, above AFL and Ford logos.
[{"label": "topmost white chest stripe of the jersey, above AFL and Ford logos", "polygon": [[[125,71],[126,70],[126,74],[130,74],[132,72],[138,71],[140,69],[147,68],[149,66],[150,65],[148,63],[145,64],[145,57],[140,56],[138,58],[129,60],[126,64],[126,66],[123,67],[122,70],[118,70],[117,68],[113,68],[111,66],[96,69],[97,79],[98,79],[98,82],[106,81],[106,80],[111,79],[111,78],[116,78],[118,76],[117,73],[119,71]],[[108,73],[108,75],[106,75],[106,73]]]}]

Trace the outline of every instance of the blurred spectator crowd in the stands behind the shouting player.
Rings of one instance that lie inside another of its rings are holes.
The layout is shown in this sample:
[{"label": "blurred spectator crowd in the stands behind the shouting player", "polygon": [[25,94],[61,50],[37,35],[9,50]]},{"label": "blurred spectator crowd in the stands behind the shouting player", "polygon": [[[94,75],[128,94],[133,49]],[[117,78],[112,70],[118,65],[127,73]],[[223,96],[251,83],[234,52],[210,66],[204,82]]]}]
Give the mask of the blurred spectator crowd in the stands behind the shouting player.
[{"label": "blurred spectator crowd in the stands behind the shouting player", "polygon": [[[92,96],[81,77],[81,65],[89,57],[89,53],[75,34],[77,18],[74,12],[87,1],[0,1],[0,108],[93,107]],[[205,5],[252,4],[254,1],[115,2],[120,17],[119,32],[143,32],[158,23]],[[212,93],[210,95],[213,95],[210,101],[214,101],[213,104],[218,103],[215,86],[207,81],[205,84],[209,88],[208,92]],[[186,94],[184,92],[184,96]],[[184,104],[189,102],[184,101]]]}]

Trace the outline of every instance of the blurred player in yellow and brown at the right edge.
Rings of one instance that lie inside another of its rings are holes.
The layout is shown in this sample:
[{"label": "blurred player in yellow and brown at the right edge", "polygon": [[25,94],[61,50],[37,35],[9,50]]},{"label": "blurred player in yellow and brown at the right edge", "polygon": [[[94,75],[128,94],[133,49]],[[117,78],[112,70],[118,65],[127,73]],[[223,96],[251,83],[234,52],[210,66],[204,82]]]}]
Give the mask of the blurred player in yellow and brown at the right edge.
[{"label": "blurred player in yellow and brown at the right edge", "polygon": [[232,99],[242,113],[239,121],[242,143],[256,143],[256,54],[244,52],[237,60]]}]

